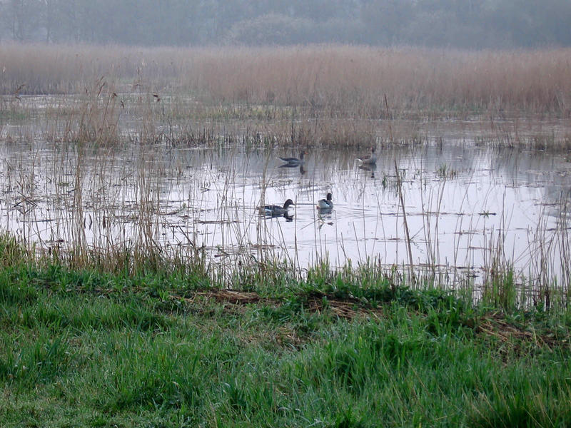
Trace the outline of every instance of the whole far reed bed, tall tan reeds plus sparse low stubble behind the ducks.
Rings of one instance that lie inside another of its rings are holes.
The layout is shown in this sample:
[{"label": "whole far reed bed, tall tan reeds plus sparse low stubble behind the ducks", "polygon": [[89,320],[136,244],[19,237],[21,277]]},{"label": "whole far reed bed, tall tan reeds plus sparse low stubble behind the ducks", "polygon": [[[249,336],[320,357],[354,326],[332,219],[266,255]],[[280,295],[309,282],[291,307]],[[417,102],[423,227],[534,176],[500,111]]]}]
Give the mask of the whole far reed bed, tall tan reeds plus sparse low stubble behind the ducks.
[{"label": "whole far reed bed, tall tan reeds plus sparse low stubble behind the ducks", "polygon": [[568,151],[569,57],[567,49],[3,44],[0,135],[308,147],[418,144],[460,129],[477,144]]}]

